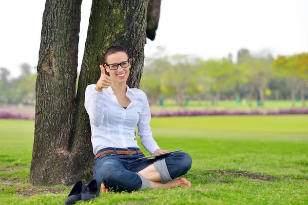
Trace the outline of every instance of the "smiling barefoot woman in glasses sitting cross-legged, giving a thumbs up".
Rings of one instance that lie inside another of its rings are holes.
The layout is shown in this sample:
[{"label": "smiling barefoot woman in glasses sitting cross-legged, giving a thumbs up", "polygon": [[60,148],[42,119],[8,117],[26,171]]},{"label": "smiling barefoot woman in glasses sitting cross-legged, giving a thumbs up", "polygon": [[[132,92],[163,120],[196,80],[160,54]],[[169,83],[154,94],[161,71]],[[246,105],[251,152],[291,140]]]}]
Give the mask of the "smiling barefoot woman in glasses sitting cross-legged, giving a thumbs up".
[{"label": "smiling barefoot woman in glasses sitting cross-legged, giving a thumbs up", "polygon": [[191,157],[175,152],[159,159],[141,159],[135,128],[144,148],[152,154],[161,150],[150,130],[150,108],[145,93],[129,88],[131,60],[124,47],[109,47],[100,65],[101,76],[85,93],[85,108],[90,117],[91,141],[95,155],[94,179],[102,192],[191,186],[185,178]]}]

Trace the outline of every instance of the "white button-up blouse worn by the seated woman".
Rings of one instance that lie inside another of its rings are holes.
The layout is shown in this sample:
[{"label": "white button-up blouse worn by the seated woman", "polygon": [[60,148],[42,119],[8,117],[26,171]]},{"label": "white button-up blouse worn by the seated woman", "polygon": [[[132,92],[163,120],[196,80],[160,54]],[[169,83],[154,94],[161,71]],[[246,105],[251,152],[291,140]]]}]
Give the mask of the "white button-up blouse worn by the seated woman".
[{"label": "white button-up blouse worn by the seated woman", "polygon": [[104,88],[103,92],[95,90],[95,84],[89,85],[85,93],[85,108],[90,117],[91,141],[93,153],[103,148],[140,148],[135,130],[143,147],[152,155],[159,149],[152,137],[150,128],[150,107],[145,93],[127,85],[126,95],[131,103],[125,109],[114,95],[112,88]]}]

